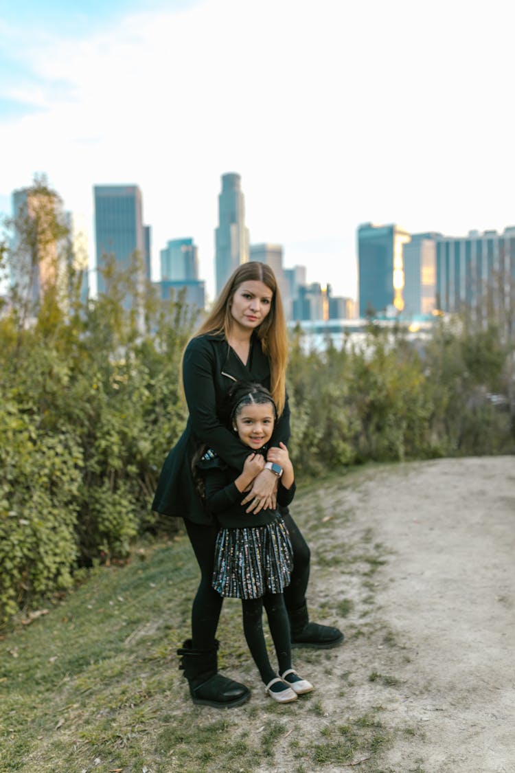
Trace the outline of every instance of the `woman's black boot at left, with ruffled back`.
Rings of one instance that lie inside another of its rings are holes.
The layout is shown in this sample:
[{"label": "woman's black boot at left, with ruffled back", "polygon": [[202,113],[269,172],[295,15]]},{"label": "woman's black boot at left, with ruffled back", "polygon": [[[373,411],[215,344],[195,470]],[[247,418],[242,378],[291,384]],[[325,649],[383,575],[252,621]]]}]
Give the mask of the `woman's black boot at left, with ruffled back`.
[{"label": "woman's black boot at left, with ruffled back", "polygon": [[188,638],[177,650],[178,656],[181,656],[179,668],[188,679],[191,700],[200,706],[219,709],[241,706],[249,700],[250,690],[244,684],[218,673],[218,649],[219,642],[216,640],[213,649],[193,649],[191,638]]}]

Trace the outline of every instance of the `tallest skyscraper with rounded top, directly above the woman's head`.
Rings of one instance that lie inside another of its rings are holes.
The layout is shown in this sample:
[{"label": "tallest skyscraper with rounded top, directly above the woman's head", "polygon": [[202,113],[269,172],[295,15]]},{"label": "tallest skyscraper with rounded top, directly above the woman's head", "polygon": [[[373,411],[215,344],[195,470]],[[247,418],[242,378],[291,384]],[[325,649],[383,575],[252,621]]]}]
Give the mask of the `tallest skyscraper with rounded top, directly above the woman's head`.
[{"label": "tallest skyscraper with rounded top, directly above the woman's head", "polygon": [[219,194],[219,227],[215,230],[215,274],[217,295],[233,271],[249,261],[249,230],[245,226],[245,199],[241,178],[233,172],[222,175]]}]

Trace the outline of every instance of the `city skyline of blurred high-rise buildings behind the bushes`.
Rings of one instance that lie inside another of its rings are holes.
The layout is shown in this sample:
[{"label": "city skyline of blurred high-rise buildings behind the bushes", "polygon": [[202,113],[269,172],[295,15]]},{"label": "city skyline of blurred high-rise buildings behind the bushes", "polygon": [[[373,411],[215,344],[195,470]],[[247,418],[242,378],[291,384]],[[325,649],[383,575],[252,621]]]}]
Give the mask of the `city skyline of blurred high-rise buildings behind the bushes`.
[{"label": "city skyline of blurred high-rise buildings behind the bushes", "polygon": [[[21,213],[23,204],[31,209],[30,203],[36,199],[29,199],[29,192],[30,189],[12,192],[14,210],[19,209]],[[72,213],[62,211],[63,202],[52,192],[49,196],[50,209],[56,213],[59,210],[71,227],[69,247],[73,253],[66,247],[67,257],[63,254],[63,260],[71,257],[77,265],[82,264],[85,242],[80,221]],[[114,257],[117,266],[125,269],[134,254],[139,253],[144,257],[140,275],[142,289],[144,277],[151,279],[148,259],[151,226],[143,223],[141,190],[137,186],[94,186],[94,196],[97,269],[107,256]],[[485,303],[501,317],[513,311],[515,226],[507,226],[503,233],[469,230],[467,237],[449,237],[437,232],[408,233],[396,223],[361,224],[357,228],[359,267],[355,308],[354,299],[335,295],[330,285],[326,288],[321,283],[308,283],[305,267],[283,267],[280,245],[249,246],[244,213],[239,175],[222,175],[216,230],[219,282],[225,284],[235,267],[247,260],[263,261],[276,273],[287,320],[349,319],[355,317],[356,311],[361,318],[368,315],[392,318],[400,313],[405,319],[415,320],[430,318],[435,312],[459,312],[463,304],[477,315],[485,312]],[[191,237],[169,240],[160,257],[158,280],[153,284],[158,287],[161,298],[169,298],[171,293],[185,288],[187,302],[198,309],[205,308],[205,281],[198,276],[198,249],[194,240]],[[41,287],[37,278],[34,280],[36,295],[40,295],[46,283],[45,261],[46,255],[37,267],[38,276],[42,272],[43,279]],[[302,281],[299,271],[303,274]],[[85,289],[86,276],[83,279]],[[102,271],[97,271],[97,280],[99,290],[109,293]],[[132,299],[126,301],[130,308]]]}]

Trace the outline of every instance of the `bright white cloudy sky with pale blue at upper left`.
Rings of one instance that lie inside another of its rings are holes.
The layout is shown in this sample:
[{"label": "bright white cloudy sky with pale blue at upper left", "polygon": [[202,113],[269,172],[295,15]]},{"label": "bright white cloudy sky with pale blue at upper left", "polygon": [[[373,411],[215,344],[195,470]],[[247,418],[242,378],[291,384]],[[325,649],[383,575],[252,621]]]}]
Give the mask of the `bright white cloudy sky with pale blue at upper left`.
[{"label": "bright white cloudy sky with pale blue at upper left", "polygon": [[515,225],[511,0],[0,0],[0,211],[45,173],[83,213],[136,184],[154,278],[192,237],[208,296],[221,175],[251,243],[357,295],[356,230]]}]

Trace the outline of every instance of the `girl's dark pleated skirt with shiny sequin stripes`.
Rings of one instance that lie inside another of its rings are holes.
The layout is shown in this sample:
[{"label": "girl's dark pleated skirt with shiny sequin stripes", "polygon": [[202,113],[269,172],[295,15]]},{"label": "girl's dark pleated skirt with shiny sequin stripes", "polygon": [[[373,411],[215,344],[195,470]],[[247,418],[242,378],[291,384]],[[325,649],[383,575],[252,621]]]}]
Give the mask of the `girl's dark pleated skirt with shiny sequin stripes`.
[{"label": "girl's dark pleated skirt with shiny sequin stripes", "polygon": [[282,518],[250,529],[221,529],[212,585],[222,596],[261,598],[290,584],[293,550]]}]

